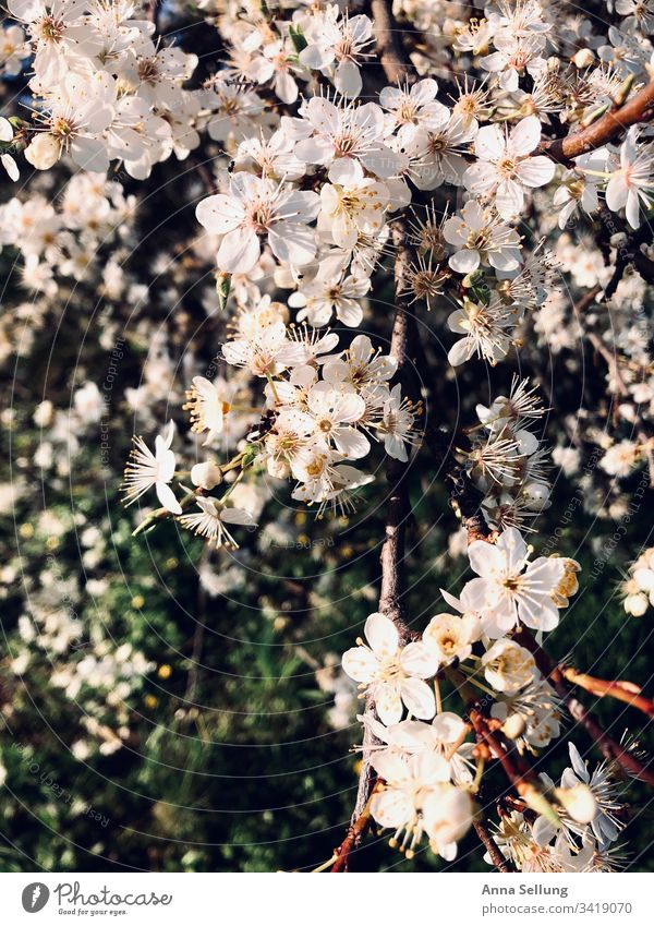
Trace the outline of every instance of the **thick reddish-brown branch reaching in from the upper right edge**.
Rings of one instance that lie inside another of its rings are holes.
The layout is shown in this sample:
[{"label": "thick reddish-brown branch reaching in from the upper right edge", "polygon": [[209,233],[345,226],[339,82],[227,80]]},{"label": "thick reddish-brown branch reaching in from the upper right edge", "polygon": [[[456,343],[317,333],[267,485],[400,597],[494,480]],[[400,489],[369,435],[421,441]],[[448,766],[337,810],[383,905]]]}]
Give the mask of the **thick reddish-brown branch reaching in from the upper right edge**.
[{"label": "thick reddish-brown branch reaching in from the upper right edge", "polygon": [[554,139],[541,144],[541,153],[553,160],[567,164],[572,158],[601,148],[614,142],[630,125],[646,122],[654,115],[654,80],[634,94],[622,106],[610,110],[596,122],[580,132],[573,132],[566,139]]}]

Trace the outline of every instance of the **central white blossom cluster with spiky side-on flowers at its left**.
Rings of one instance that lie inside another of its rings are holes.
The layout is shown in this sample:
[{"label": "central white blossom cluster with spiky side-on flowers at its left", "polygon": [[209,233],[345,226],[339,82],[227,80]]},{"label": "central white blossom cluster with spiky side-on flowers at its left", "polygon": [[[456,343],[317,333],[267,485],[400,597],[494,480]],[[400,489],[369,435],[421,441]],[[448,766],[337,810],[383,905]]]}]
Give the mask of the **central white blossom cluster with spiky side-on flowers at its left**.
[{"label": "central white blossom cluster with spiky side-on flowers at its left", "polygon": [[[383,442],[385,452],[407,460],[407,444],[414,438],[420,408],[402,397],[399,385],[389,386],[397,361],[373,348],[366,335],[358,335],[344,350],[337,350],[335,333],[314,335],[306,327],[287,328],[278,308],[266,303],[258,316],[241,317],[240,327],[223,345],[227,363],[244,368],[251,375],[267,381],[266,401],[261,422],[235,458],[242,466],[261,466],[270,477],[292,478],[292,497],[347,509],[354,490],[373,477],[352,462],[366,457],[371,441]],[[190,412],[193,432],[210,447],[223,434],[232,409],[238,410],[233,389],[195,376],[184,406]],[[191,481],[199,513],[187,514],[170,483],[175,476],[175,455],[171,449],[173,422],[155,441],[155,453],[135,438],[135,447],[125,469],[124,491],[128,503],[155,488],[159,502],[180,524],[216,546],[235,546],[227,524],[254,527],[247,512],[228,504],[234,483],[222,498],[207,495],[223,481],[225,472],[215,457],[208,456],[191,469]]]}]

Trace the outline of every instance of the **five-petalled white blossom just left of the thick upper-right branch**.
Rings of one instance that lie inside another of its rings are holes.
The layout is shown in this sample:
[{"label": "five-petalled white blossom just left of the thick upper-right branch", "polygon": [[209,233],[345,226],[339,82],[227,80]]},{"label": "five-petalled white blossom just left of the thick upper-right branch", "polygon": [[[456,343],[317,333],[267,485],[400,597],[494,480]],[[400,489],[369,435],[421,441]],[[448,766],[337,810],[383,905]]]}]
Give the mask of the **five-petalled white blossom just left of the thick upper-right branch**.
[{"label": "five-petalled white blossom just left of the thick upper-right branch", "polygon": [[540,141],[541,121],[536,116],[521,119],[510,132],[497,125],[480,129],[474,142],[477,161],[463,175],[465,188],[493,199],[502,218],[520,215],[524,189],[544,187],[554,177],[554,161],[544,155],[530,157]]}]

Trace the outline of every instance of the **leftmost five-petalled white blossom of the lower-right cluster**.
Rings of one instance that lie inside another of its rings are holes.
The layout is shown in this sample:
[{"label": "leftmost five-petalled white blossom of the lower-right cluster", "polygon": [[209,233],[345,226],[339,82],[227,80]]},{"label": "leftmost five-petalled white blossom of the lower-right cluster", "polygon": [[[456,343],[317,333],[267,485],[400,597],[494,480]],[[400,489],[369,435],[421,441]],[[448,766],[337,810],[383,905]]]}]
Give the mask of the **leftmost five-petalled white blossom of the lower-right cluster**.
[{"label": "leftmost five-petalled white blossom of the lower-right cluster", "polygon": [[400,646],[400,636],[392,621],[385,614],[371,614],[365,622],[363,641],[349,649],[342,659],[343,670],[375,701],[379,720],[389,725],[402,717],[405,706],[421,720],[431,720],[436,713],[434,692],[424,681],[438,668],[438,660],[421,642]]}]

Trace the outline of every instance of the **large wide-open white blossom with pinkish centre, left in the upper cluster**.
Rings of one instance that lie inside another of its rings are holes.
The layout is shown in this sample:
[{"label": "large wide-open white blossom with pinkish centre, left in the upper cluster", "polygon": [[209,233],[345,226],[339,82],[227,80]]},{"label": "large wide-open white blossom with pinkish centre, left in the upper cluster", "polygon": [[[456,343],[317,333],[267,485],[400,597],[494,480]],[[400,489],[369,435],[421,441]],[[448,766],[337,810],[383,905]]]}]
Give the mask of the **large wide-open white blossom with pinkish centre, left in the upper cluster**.
[{"label": "large wide-open white blossom with pinkish centre, left in the upper cluster", "polygon": [[307,224],[319,208],[317,193],[284,189],[282,183],[240,171],[231,178],[229,194],[202,200],[195,215],[207,231],[225,236],[218,268],[246,274],[258,262],[263,236],[282,264],[302,266],[313,261],[316,234]]}]

